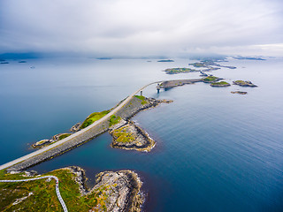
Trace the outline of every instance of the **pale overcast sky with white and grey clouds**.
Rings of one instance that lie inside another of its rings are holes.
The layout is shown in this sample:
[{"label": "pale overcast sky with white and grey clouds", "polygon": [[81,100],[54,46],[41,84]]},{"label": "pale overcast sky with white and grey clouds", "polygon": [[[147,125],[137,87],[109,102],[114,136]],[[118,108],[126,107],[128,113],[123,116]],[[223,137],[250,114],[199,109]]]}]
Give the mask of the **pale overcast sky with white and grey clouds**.
[{"label": "pale overcast sky with white and grey clouds", "polygon": [[283,0],[0,0],[0,53],[283,56]]}]

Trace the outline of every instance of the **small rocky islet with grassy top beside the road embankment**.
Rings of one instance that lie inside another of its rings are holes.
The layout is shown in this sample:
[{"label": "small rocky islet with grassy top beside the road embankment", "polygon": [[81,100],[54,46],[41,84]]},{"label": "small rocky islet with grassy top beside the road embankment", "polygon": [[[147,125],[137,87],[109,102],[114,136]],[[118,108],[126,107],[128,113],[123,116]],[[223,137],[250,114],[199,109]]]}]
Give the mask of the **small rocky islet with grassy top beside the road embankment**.
[{"label": "small rocky islet with grassy top beside the road embankment", "polygon": [[[125,122],[124,122],[125,123]],[[113,138],[112,148],[134,149],[137,151],[149,152],[155,146],[155,141],[141,127],[128,121],[124,125],[109,132]]]}]

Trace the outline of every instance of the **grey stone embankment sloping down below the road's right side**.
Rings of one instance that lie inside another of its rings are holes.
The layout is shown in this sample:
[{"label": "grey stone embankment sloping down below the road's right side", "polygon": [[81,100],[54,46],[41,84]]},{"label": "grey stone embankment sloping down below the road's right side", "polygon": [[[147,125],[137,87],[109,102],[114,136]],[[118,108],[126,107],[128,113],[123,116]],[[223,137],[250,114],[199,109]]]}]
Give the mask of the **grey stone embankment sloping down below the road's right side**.
[{"label": "grey stone embankment sloping down below the road's right side", "polygon": [[[122,117],[123,119],[128,119],[133,117],[141,110],[146,110],[149,108],[156,107],[161,102],[170,102],[170,101],[159,101],[155,99],[149,98],[149,102],[139,99],[134,96],[129,102],[127,102],[120,110],[118,110],[115,115],[118,117]],[[50,160],[51,158],[62,155],[66,151],[69,151],[73,148],[80,146],[81,144],[87,142],[95,138],[97,135],[101,133],[105,133],[109,130],[110,126],[110,117],[106,118],[105,120],[99,122],[94,127],[90,127],[88,131],[84,133],[80,133],[76,136],[70,136],[70,139],[67,142],[62,143],[61,145],[50,148],[50,150],[42,152],[40,155],[34,155],[27,160],[17,163],[7,169],[7,171],[17,171],[17,170],[26,170],[29,167],[32,167],[38,163],[42,163],[46,160]],[[74,134],[73,134],[74,135]],[[58,142],[58,141],[57,141]]]}]

